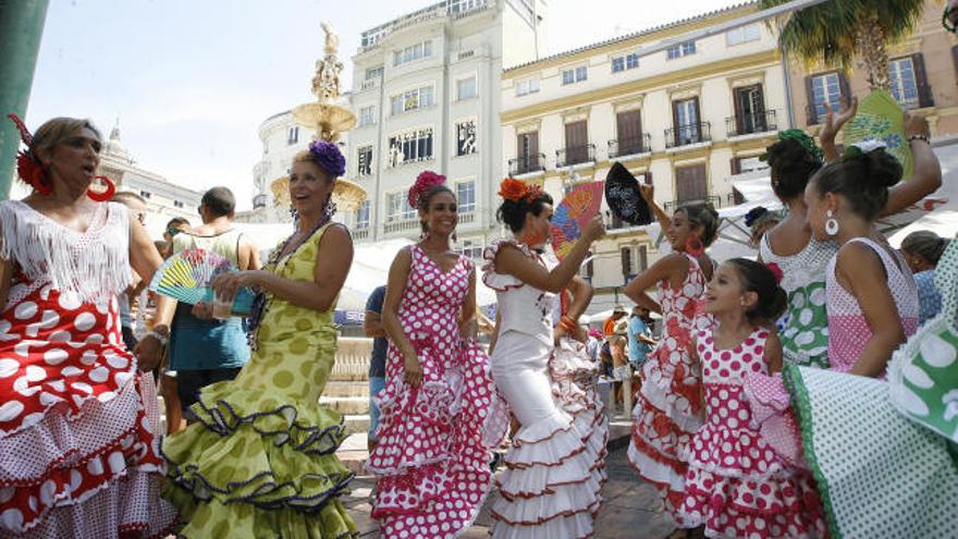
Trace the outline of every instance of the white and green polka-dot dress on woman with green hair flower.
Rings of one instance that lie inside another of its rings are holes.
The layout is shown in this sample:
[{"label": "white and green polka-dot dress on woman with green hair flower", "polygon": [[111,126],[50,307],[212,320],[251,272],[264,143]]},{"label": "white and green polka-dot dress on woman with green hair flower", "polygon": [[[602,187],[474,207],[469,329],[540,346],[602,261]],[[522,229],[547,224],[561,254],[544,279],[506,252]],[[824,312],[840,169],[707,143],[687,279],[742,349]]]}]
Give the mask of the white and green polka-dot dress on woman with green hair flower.
[{"label": "white and green polka-dot dress on woman with green hair flower", "polygon": [[765,265],[774,264],[782,270],[781,286],[788,294],[788,309],[779,335],[785,360],[805,367],[828,368],[825,268],[838,253],[838,245],[812,237],[801,252],[779,256],[772,252],[765,234],[759,248]]}]

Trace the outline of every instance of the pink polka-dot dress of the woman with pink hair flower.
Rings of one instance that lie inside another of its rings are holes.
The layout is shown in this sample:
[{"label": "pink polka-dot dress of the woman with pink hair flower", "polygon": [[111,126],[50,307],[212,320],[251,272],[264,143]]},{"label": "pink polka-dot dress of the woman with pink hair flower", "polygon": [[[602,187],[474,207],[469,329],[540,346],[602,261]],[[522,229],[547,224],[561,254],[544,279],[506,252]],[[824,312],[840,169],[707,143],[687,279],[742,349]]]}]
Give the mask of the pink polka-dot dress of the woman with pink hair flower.
[{"label": "pink polka-dot dress of the woman with pink hair flower", "polygon": [[405,383],[394,345],[386,357],[379,444],[366,468],[378,476],[372,516],[388,538],[455,537],[471,525],[489,491],[490,454],[482,426],[493,397],[486,354],[460,344],[457,315],[474,273],[460,256],[449,272],[418,246],[400,319],[423,379]]}]

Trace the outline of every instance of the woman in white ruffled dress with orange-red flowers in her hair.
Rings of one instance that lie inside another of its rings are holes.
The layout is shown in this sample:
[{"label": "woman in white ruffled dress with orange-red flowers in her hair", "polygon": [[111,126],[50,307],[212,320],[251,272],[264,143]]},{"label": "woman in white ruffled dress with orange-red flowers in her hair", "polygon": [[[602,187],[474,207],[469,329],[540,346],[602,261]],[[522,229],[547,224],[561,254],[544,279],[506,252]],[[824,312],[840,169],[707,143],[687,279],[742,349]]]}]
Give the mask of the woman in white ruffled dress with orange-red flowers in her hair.
[{"label": "woman in white ruffled dress with orange-red flowers in her hair", "polygon": [[[549,243],[552,197],[518,180],[503,181],[500,196],[499,218],[514,237],[493,242],[484,253],[483,282],[499,298],[490,364],[495,387],[521,427],[504,457],[492,537],[590,537],[601,502],[604,448],[556,402],[549,359],[560,336],[552,318],[556,294],[573,282],[590,245],[605,231],[597,216],[565,259],[551,267],[540,253]],[[582,304],[588,302],[572,302],[576,308]],[[567,318],[580,314],[570,310]]]}]

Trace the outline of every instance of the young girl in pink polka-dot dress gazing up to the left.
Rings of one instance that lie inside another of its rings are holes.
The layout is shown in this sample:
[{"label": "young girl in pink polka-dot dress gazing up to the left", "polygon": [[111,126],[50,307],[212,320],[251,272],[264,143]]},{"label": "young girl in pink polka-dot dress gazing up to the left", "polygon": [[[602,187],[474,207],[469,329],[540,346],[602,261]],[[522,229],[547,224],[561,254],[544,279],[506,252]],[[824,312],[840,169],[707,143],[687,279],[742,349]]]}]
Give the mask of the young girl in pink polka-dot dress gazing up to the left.
[{"label": "young girl in pink polka-dot dress gazing up to the left", "polygon": [[717,326],[695,339],[705,424],[683,455],[683,519],[704,525],[708,537],[821,537],[824,522],[811,476],[790,468],[762,439],[742,390],[748,373],[782,369],[782,344],[762,324],[785,311],[785,291],[765,266],[735,258],[718,267],[705,298]]}]

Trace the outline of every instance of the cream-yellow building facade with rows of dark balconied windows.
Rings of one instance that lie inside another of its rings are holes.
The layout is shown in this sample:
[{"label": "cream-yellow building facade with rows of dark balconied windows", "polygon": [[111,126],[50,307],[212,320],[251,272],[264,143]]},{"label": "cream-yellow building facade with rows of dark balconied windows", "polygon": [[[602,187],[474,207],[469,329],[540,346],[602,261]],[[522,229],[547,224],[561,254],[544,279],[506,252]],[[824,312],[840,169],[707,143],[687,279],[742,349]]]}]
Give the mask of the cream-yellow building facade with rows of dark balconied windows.
[{"label": "cream-yellow building facade with rows of dark balconied windows", "polygon": [[[754,24],[636,52],[754,10],[738,5],[506,70],[503,169],[560,200],[622,162],[655,186],[670,213],[692,200],[736,204],[728,176],[763,168],[759,156],[790,126],[776,36]],[[621,287],[660,255],[656,237],[606,216],[609,234],[582,269],[598,289],[590,311],[624,299]]]}]

